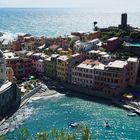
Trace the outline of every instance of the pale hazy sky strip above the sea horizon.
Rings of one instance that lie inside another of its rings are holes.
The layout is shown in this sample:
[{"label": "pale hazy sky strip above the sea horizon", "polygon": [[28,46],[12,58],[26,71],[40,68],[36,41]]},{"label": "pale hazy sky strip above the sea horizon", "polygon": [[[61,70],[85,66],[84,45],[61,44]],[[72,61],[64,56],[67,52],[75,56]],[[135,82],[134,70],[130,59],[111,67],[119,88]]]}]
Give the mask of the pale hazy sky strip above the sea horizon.
[{"label": "pale hazy sky strip above the sea horizon", "polygon": [[0,0],[0,7],[93,8],[105,11],[139,11],[140,0]]}]

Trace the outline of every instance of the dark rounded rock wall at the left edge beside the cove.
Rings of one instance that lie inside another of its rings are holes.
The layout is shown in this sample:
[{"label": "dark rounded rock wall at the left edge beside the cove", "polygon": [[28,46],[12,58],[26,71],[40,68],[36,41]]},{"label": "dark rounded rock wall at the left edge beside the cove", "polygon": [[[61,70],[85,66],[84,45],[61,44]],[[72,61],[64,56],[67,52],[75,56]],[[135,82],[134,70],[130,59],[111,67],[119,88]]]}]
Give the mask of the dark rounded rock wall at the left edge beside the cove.
[{"label": "dark rounded rock wall at the left edge beside the cove", "polygon": [[0,91],[0,120],[11,116],[20,106],[20,91],[16,84],[9,84]]}]

